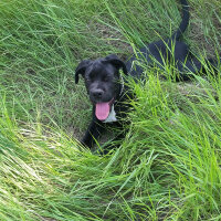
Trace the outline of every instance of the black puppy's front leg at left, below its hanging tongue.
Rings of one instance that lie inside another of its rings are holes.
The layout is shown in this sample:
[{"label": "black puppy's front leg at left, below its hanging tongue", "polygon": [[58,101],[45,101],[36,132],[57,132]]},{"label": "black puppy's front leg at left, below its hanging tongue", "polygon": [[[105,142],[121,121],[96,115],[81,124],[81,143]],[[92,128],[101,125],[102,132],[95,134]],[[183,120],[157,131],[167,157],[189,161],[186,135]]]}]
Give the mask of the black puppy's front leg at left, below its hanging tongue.
[{"label": "black puppy's front leg at left, below its hanging tongue", "polygon": [[96,119],[93,119],[82,139],[82,144],[92,148],[95,139],[98,138],[103,129],[104,127],[102,127]]}]

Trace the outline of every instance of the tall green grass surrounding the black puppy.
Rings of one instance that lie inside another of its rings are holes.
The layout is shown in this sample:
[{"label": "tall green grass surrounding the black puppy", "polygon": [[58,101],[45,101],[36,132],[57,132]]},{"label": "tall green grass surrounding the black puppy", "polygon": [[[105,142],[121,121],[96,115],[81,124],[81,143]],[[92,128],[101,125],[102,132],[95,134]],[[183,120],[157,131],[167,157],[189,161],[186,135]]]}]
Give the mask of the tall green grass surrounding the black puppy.
[{"label": "tall green grass surrounding the black puppy", "polygon": [[[189,0],[183,40],[218,56],[220,0]],[[131,84],[130,125],[99,156],[77,143],[91,118],[83,59],[135,48],[176,30],[176,0],[0,1],[0,220],[221,220],[221,70],[189,83],[145,71]]]}]

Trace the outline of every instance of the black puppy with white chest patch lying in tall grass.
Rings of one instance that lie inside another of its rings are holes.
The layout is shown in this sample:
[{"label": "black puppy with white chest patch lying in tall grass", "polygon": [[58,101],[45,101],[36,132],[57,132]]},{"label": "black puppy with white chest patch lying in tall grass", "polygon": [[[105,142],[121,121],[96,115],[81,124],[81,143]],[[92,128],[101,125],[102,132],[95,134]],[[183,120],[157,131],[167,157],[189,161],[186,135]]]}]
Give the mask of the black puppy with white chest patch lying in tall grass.
[{"label": "black puppy with white chest patch lying in tall grass", "polygon": [[165,61],[173,62],[180,73],[180,78],[177,80],[182,81],[190,77],[186,74],[187,71],[196,73],[202,69],[202,64],[189,52],[188,45],[179,41],[189,23],[189,6],[186,0],[181,0],[181,4],[182,21],[171,38],[141,48],[137,52],[137,56],[131,56],[126,64],[116,55],[95,61],[84,60],[78,64],[75,72],[75,83],[78,83],[78,75],[82,74],[93,104],[93,119],[82,139],[82,144],[91,148],[94,140],[104,130],[104,123],[116,123],[118,115],[125,113],[123,101],[126,95],[124,80],[119,74],[120,69],[124,74],[129,73],[139,77],[143,69],[135,64],[134,61],[137,59],[145,60],[148,65],[156,64],[160,69],[164,69]]}]

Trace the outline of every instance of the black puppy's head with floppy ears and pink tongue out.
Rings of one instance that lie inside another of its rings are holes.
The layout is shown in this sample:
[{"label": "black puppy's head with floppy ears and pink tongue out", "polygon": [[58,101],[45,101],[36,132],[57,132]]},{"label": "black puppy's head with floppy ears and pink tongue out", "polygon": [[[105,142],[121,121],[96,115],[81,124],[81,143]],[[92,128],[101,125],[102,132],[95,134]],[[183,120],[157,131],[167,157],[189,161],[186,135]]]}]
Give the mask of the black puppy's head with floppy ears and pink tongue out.
[{"label": "black puppy's head with floppy ears and pink tongue out", "polygon": [[125,63],[114,54],[95,61],[84,60],[76,67],[75,83],[78,83],[78,75],[82,74],[99,120],[108,117],[112,105],[120,93],[120,69],[127,74]]}]

